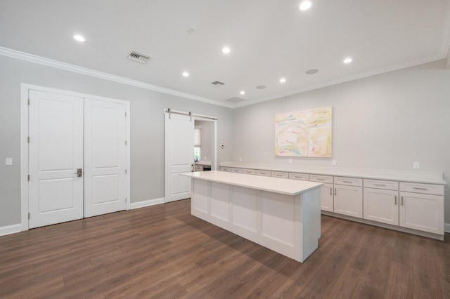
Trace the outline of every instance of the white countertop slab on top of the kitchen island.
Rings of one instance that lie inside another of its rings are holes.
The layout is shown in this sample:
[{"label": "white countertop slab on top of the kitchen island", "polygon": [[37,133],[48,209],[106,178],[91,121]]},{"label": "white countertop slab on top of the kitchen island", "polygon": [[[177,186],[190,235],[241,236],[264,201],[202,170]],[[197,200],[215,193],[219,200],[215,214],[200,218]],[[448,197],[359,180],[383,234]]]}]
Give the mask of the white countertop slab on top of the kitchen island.
[{"label": "white countertop slab on top of the kitchen island", "polygon": [[276,192],[287,195],[297,195],[323,185],[321,182],[306,180],[285,180],[260,175],[246,175],[241,173],[227,173],[224,171],[198,171],[194,173],[180,173],[191,178],[221,182],[228,185],[247,187],[256,190]]}]

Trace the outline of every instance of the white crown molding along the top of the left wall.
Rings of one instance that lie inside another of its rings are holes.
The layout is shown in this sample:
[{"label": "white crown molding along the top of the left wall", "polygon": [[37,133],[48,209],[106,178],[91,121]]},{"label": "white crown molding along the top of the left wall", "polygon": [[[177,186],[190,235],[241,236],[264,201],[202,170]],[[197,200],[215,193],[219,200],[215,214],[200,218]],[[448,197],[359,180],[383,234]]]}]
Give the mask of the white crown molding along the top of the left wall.
[{"label": "white crown molding along the top of the left wall", "polygon": [[86,67],[79,67],[77,65],[70,65],[69,63],[60,62],[57,60],[52,60],[49,58],[44,58],[37,55],[32,55],[30,53],[16,51],[10,48],[0,47],[0,55],[7,56],[10,58],[15,58],[18,60],[25,60],[28,62],[37,63],[39,65],[45,65],[47,67],[55,67],[57,69],[63,69],[68,72],[75,72],[78,74],[84,74],[86,76],[96,77],[100,79],[105,79],[108,81],[114,81],[120,84],[127,84],[130,86],[135,86],[143,89],[148,89],[150,91],[157,91],[158,93],[167,93],[169,95],[175,95],[181,98],[188,98],[190,100],[197,100],[199,102],[206,102],[208,104],[233,108],[233,105],[229,105],[228,103],[218,102],[215,100],[210,100],[208,98],[199,97],[198,95],[191,95],[190,93],[183,93],[181,91],[175,91],[173,89],[148,84],[142,81],[137,81],[133,79],[128,79],[125,77],[116,76],[113,74],[108,74],[105,72],[98,72],[94,69],[88,69]]}]

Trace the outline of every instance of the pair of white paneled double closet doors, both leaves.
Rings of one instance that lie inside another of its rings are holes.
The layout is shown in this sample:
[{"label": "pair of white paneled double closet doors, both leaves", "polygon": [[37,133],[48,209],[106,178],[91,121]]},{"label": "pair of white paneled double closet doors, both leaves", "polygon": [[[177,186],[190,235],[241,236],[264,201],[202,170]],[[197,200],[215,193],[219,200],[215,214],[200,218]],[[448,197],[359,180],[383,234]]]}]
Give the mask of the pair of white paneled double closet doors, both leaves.
[{"label": "pair of white paneled double closet doors, both leaves", "polygon": [[29,91],[29,227],[125,210],[127,102]]}]

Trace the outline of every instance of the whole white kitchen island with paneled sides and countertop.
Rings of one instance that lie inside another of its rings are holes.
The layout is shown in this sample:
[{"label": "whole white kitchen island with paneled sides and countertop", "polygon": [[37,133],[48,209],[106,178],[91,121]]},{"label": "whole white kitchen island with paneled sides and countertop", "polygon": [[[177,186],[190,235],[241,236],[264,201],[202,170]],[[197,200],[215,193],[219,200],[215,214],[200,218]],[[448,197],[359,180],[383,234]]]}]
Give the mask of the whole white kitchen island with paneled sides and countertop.
[{"label": "whole white kitchen island with paneled sides and countertop", "polygon": [[191,213],[303,263],[321,237],[321,182],[205,171],[192,178]]}]

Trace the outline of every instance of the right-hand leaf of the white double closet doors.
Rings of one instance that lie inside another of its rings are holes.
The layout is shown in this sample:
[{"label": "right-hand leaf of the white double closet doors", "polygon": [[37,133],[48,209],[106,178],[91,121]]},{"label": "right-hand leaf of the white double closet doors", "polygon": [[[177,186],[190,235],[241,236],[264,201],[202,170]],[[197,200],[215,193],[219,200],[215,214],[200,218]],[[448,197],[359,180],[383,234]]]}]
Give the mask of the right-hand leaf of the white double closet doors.
[{"label": "right-hand leaf of the white double closet doors", "polygon": [[84,100],[84,217],[126,209],[127,107]]}]

